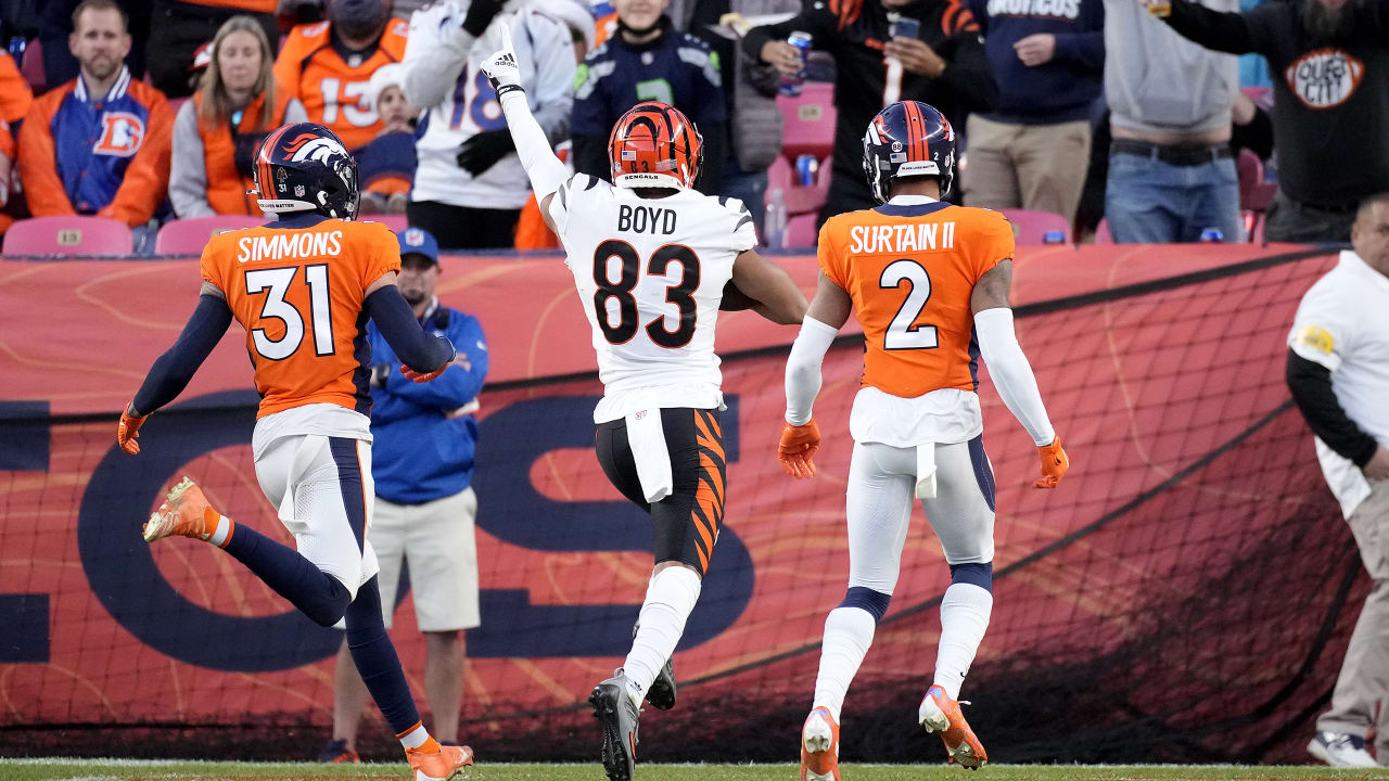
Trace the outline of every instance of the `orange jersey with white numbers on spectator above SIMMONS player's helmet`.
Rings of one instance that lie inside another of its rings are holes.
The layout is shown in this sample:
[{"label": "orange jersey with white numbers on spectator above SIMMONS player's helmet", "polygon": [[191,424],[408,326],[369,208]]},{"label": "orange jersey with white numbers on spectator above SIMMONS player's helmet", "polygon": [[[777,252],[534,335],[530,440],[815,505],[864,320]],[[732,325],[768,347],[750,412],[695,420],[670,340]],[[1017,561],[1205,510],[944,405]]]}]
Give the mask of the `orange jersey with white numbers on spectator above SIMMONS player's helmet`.
[{"label": "orange jersey with white numbers on spectator above SIMMONS player's helmet", "polygon": [[381,132],[381,117],[367,93],[376,68],[406,56],[410,24],[386,22],[386,32],[369,53],[344,53],[333,46],[329,22],[299,25],[289,32],[275,58],[275,81],[304,104],[310,122],[326,125],[356,153]]}]

